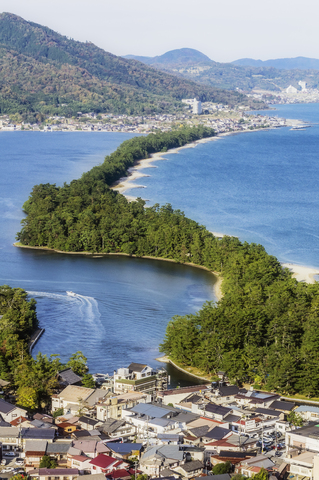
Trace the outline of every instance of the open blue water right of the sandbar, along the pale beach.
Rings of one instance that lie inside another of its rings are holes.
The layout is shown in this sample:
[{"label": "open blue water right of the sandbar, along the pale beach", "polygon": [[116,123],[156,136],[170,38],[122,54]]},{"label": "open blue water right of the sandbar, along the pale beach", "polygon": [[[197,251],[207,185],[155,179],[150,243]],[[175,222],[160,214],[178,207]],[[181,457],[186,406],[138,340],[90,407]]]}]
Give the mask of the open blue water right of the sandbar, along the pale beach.
[{"label": "open blue water right of the sandbar, along the pale beach", "polygon": [[[268,115],[269,111],[265,112]],[[283,262],[319,267],[319,105],[271,115],[313,124],[220,137],[166,154],[129,195],[171,203],[209,230],[261,243]]]}]

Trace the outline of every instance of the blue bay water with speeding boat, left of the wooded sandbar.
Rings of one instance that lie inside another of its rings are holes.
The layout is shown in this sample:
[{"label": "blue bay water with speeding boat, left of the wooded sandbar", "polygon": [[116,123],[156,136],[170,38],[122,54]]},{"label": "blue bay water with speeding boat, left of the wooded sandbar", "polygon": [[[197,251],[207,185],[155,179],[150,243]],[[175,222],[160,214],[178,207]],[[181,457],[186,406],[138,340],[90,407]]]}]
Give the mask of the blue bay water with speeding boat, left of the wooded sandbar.
[{"label": "blue bay water with speeding boat, left of the wooded sandbar", "polygon": [[132,136],[0,132],[0,285],[24,288],[37,300],[45,334],[34,354],[60,353],[67,360],[81,350],[91,372],[113,373],[131,362],[158,366],[154,359],[171,317],[195,313],[214,299],[215,278],[200,269],[12,245],[21,228],[21,206],[35,184],[78,178]]}]

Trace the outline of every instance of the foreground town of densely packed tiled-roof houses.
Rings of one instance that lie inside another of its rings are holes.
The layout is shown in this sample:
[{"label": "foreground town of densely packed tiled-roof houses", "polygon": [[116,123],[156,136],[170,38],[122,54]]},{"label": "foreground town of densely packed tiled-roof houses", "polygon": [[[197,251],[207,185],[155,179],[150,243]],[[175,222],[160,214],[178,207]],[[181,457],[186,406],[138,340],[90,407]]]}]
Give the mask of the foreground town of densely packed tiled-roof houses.
[{"label": "foreground town of densely packed tiled-roof houses", "polygon": [[140,363],[93,377],[86,388],[60,371],[51,411],[32,415],[0,381],[1,478],[319,478],[319,406],[230,385],[224,372],[176,389]]}]

